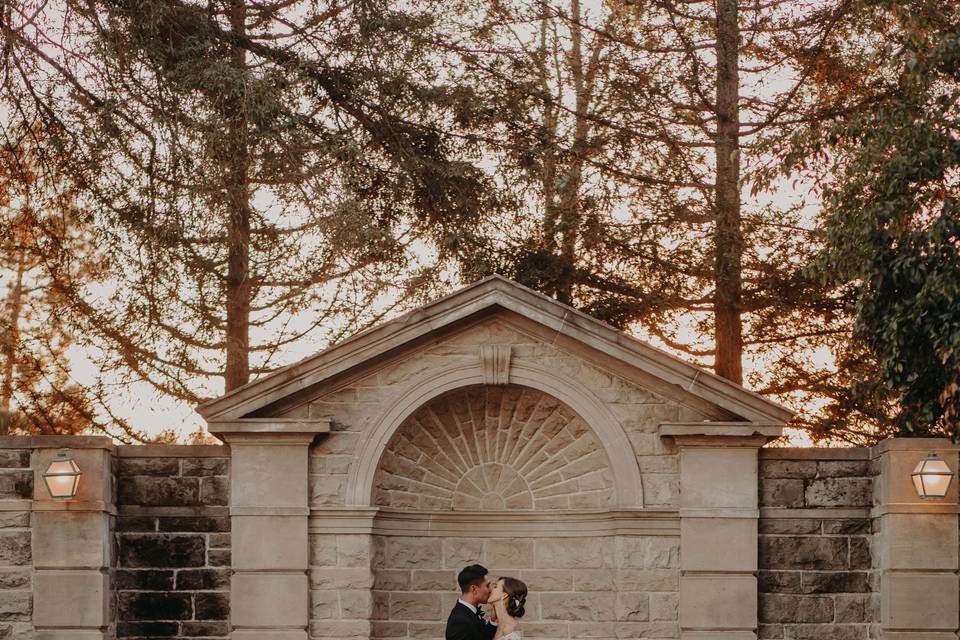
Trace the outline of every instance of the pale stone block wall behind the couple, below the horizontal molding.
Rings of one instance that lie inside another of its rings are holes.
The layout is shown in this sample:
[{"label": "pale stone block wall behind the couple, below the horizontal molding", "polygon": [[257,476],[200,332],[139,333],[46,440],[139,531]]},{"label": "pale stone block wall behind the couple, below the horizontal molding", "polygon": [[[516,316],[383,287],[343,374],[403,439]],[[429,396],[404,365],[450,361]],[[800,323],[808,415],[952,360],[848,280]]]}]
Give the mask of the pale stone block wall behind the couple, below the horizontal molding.
[{"label": "pale stone block wall behind the couple, below the horizontal molding", "polygon": [[441,639],[479,562],[527,583],[525,638],[679,637],[677,536],[488,536],[312,536],[311,635]]}]

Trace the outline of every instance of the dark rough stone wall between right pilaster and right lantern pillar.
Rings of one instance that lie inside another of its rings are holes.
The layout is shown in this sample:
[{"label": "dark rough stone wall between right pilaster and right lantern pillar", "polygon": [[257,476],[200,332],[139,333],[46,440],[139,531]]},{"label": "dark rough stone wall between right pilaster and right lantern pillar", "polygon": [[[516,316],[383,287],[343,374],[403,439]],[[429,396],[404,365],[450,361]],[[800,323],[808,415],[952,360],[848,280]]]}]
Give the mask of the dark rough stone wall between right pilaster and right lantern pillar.
[{"label": "dark rough stone wall between right pilaster and right lantern pillar", "polygon": [[868,449],[760,451],[760,638],[870,636],[874,475]]}]

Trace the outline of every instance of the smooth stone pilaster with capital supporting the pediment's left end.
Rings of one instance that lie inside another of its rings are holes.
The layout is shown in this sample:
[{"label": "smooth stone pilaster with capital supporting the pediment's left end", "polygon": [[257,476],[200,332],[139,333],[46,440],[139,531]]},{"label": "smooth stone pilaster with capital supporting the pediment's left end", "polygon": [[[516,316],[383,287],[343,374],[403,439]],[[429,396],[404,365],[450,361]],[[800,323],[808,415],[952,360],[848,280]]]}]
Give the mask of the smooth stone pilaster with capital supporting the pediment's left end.
[{"label": "smooth stone pilaster with capital supporting the pediment's left end", "polygon": [[327,421],[211,422],[230,444],[233,640],[306,640],[308,449]]}]

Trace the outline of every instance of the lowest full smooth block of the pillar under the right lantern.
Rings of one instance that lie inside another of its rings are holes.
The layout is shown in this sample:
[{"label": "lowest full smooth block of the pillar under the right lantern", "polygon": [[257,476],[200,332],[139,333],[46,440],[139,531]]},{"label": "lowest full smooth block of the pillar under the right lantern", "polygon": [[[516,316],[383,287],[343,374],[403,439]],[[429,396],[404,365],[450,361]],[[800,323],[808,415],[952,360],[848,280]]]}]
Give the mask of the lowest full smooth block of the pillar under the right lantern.
[{"label": "lowest full smooth block of the pillar under the right lantern", "polygon": [[955,573],[886,573],[882,580],[880,621],[885,629],[956,630]]}]

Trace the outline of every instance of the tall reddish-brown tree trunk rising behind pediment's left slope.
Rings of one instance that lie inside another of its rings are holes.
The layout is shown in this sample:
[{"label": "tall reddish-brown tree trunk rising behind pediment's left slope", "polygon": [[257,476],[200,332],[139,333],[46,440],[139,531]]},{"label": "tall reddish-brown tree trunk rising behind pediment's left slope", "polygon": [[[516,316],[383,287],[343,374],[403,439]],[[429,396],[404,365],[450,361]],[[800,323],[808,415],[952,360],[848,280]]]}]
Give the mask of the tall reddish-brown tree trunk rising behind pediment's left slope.
[{"label": "tall reddish-brown tree trunk rising behind pediment's left slope", "polygon": [[[230,0],[230,28],[237,36],[246,34],[247,8],[244,0]],[[234,47],[231,64],[238,76],[246,72],[246,51]],[[226,390],[236,389],[250,379],[250,149],[247,114],[242,84],[225,96],[224,118],[228,152],[226,197],[227,219],[227,362]]]}]

